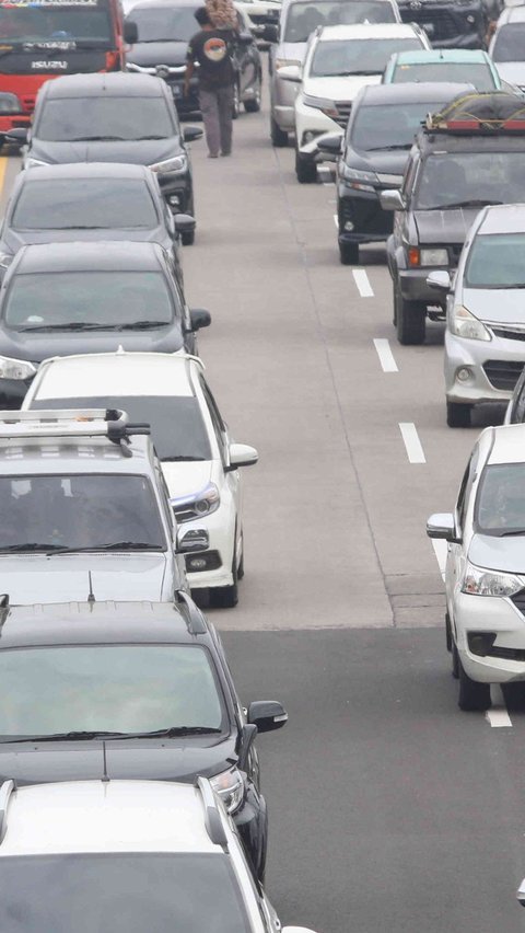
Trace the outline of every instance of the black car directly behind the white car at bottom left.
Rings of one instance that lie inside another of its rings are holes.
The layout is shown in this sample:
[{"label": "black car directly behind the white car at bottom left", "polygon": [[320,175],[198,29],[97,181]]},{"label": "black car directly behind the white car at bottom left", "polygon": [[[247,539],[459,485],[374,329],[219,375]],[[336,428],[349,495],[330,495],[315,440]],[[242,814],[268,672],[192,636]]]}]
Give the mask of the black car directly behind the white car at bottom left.
[{"label": "black car directly behind the white car at bottom left", "polygon": [[245,714],[220,637],[189,597],[8,606],[0,622],[1,780],[209,778],[264,878],[254,738],[288,715],[277,701]]}]

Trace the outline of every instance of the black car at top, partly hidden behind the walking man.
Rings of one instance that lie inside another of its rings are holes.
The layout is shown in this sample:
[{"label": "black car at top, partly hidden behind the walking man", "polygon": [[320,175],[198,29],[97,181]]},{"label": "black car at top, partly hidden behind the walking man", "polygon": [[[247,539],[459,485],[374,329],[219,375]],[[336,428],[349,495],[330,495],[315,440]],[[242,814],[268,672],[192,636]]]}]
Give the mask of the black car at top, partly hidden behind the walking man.
[{"label": "black car at top, partly hidden behind the walking man", "polygon": [[[201,5],[198,0],[143,0],[126,18],[126,23],[135,24],[139,31],[139,42],[126,57],[128,71],[163,78],[180,116],[200,111],[198,78],[191,79],[187,97],[183,94],[183,87],[188,42],[200,28],[195,11]],[[236,71],[234,117],[238,116],[241,104],[248,112],[260,110],[262,84],[260,53],[249,31],[248,20],[240,10],[237,27],[233,49]]]}]

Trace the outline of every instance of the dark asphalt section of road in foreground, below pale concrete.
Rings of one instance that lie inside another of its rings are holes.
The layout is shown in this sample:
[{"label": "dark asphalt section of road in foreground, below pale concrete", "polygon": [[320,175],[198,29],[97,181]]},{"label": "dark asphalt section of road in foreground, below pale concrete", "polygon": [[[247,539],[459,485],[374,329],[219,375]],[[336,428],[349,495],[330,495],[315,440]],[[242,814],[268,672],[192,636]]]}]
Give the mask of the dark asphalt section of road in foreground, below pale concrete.
[{"label": "dark asphalt section of road in foreground, below pale concrete", "polygon": [[267,889],[319,933],[517,933],[523,742],[460,713],[435,631],[236,632],[245,702],[282,700],[260,736]]}]

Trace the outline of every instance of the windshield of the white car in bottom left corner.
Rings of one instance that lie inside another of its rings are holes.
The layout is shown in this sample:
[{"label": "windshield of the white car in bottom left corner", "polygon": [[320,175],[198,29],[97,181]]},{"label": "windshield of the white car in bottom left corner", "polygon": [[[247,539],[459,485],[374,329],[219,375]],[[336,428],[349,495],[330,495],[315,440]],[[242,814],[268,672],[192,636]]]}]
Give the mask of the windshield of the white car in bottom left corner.
[{"label": "windshield of the white car in bottom left corner", "polygon": [[0,929],[249,933],[237,884],[229,856],[215,852],[4,856]]}]

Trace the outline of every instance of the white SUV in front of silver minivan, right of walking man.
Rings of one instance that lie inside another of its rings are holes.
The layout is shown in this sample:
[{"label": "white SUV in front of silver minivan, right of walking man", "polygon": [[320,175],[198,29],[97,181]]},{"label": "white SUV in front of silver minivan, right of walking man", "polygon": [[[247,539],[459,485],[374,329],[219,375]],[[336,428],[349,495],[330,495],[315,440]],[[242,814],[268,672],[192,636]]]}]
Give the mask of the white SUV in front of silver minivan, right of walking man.
[{"label": "white SUV in front of silver minivan, right of walking man", "polygon": [[308,41],[304,66],[281,68],[279,77],[302,82],[295,97],[295,173],[315,182],[316,139],[346,129],[352,102],[365,84],[380,84],[395,51],[430,48],[425,33],[404,23],[322,26]]}]

